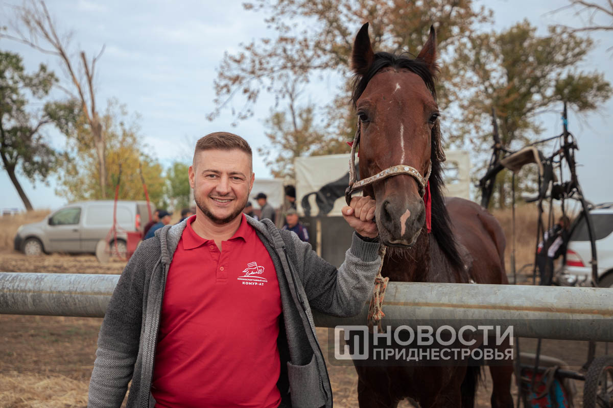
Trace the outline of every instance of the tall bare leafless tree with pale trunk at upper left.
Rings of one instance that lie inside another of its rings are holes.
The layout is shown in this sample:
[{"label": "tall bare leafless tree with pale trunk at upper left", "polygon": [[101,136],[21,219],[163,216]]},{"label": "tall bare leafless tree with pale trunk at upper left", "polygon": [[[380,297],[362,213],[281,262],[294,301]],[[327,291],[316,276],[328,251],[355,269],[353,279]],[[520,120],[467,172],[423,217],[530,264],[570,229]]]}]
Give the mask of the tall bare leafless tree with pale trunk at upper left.
[{"label": "tall bare leafless tree with pale trunk at upper left", "polygon": [[105,162],[105,140],[102,123],[96,109],[96,92],[94,90],[94,74],[96,62],[104,51],[104,45],[97,56],[88,60],[85,51],[78,51],[72,57],[69,53],[72,32],[58,34],[56,23],[51,18],[44,1],[25,0],[22,6],[14,7],[14,19],[7,32],[0,32],[0,37],[15,40],[35,48],[45,54],[59,58],[72,90],[61,87],[70,97],[76,98],[81,104],[81,110],[91,132],[91,143],[96,150],[99,166],[99,183],[105,198],[107,190],[107,168]]}]

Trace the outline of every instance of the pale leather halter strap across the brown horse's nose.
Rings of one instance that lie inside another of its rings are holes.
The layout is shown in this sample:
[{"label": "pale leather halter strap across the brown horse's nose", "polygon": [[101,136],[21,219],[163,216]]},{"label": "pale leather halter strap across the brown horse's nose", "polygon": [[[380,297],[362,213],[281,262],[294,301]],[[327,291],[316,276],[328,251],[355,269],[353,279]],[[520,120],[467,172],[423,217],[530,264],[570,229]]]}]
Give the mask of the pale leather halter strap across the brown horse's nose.
[{"label": "pale leather halter strap across the brown horse's nose", "polygon": [[416,168],[408,165],[392,166],[383,171],[379,171],[375,176],[370,176],[363,180],[357,180],[356,176],[356,150],[360,143],[360,125],[357,125],[356,136],[354,136],[353,144],[351,145],[351,156],[349,157],[349,187],[345,190],[345,201],[347,205],[351,202],[351,195],[354,191],[362,190],[367,185],[373,184],[379,180],[387,179],[387,177],[397,176],[398,174],[407,174],[413,177],[417,181],[419,187],[419,195],[422,198],[425,195],[425,186],[430,179],[430,172],[432,171],[432,161],[428,164],[428,172],[425,177],[421,175]]}]

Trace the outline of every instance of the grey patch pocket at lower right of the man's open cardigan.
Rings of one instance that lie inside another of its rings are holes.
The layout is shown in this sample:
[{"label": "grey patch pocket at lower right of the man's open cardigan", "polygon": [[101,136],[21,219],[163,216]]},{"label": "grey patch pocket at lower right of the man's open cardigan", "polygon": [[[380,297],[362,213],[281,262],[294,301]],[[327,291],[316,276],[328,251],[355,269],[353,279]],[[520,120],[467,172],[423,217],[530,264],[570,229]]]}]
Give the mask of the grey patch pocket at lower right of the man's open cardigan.
[{"label": "grey patch pocket at lower right of the man's open cardigan", "polygon": [[326,393],[315,354],[307,365],[297,366],[287,362],[287,377],[292,408],[319,408],[326,405]]}]

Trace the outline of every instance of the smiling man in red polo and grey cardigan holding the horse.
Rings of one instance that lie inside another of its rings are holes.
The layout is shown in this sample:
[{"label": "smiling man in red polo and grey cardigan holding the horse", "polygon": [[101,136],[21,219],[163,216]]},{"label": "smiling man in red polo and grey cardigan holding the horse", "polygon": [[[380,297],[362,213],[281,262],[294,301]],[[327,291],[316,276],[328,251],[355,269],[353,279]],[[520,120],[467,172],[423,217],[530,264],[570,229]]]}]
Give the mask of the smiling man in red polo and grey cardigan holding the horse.
[{"label": "smiling man in red polo and grey cardigan holding the horse", "polygon": [[359,313],[381,259],[375,202],[343,209],[356,229],[337,270],[293,232],[242,213],[251,148],[232,133],[196,145],[196,215],[156,231],[132,256],[109,304],[90,407],[332,406],[311,307]]}]

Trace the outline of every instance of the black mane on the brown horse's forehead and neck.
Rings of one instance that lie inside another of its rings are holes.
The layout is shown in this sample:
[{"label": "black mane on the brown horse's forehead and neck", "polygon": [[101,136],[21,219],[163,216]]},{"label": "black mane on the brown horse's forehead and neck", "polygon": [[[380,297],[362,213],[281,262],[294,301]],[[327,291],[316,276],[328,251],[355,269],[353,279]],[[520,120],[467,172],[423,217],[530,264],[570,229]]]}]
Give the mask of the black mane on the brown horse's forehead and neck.
[{"label": "black mane on the brown horse's forehead and neck", "polygon": [[[436,101],[436,89],[435,81],[436,75],[432,73],[428,64],[422,59],[412,59],[403,54],[391,54],[385,52],[378,52],[375,54],[375,59],[370,65],[368,72],[365,75],[356,75],[354,78],[352,88],[351,102],[354,108],[356,107],[357,100],[366,89],[368,82],[375,76],[380,70],[391,67],[394,69],[406,69],[410,72],[419,75],[424,80],[425,86],[432,94],[432,97]],[[451,221],[449,220],[449,213],[445,207],[445,201],[443,196],[443,166],[436,156],[438,146],[437,141],[441,141],[440,127],[438,123],[432,128],[432,135],[430,137],[430,143],[432,144],[430,149],[430,161],[432,162],[432,172],[430,172],[430,198],[432,199],[432,235],[434,236],[436,243],[446,254],[447,259],[452,266],[462,269],[464,262],[462,256],[458,251],[454,233],[451,230]]]}]

